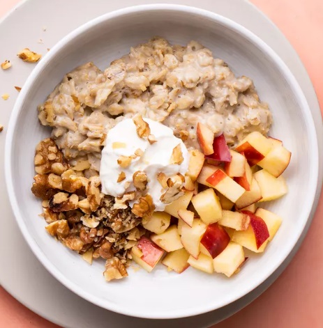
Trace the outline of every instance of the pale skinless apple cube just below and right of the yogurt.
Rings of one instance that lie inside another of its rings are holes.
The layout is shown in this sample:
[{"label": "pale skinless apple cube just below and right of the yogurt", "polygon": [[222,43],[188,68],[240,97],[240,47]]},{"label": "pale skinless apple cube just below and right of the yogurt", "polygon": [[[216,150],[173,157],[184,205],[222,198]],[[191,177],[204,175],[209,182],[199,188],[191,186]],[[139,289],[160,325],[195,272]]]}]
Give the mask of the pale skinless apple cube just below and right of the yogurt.
[{"label": "pale skinless apple cube just below and right of the yogurt", "polygon": [[220,201],[212,188],[193,196],[192,203],[204,224],[212,224],[222,216]]}]

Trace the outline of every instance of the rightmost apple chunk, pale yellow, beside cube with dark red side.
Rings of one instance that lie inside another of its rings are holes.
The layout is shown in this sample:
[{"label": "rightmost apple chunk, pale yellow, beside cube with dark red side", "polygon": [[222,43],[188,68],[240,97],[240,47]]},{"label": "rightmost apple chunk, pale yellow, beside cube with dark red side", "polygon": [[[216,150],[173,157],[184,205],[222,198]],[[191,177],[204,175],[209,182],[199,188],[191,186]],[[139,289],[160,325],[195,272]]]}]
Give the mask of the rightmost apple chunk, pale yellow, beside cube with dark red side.
[{"label": "rightmost apple chunk, pale yellow, beside cube with dark red side", "polygon": [[276,146],[271,149],[264,159],[258,162],[258,165],[277,178],[290,164],[291,156],[292,153],[285,147]]}]

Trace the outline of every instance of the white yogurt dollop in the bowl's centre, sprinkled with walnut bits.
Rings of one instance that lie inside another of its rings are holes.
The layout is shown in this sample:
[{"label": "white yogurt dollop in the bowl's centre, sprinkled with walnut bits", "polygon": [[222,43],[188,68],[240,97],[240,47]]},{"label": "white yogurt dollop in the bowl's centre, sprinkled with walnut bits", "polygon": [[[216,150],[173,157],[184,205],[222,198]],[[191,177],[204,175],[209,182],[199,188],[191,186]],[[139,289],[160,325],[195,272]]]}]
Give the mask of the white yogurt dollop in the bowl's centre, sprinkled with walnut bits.
[{"label": "white yogurt dollop in the bowl's centre, sprinkled with walnut bits", "polygon": [[[140,138],[131,118],[122,120],[107,133],[100,164],[101,189],[104,194],[115,197],[135,191],[133,173],[144,171],[148,177],[145,194],[151,195],[157,211],[163,211],[166,204],[160,201],[163,188],[157,180],[158,173],[165,173],[169,177],[177,173],[185,175],[188,170],[188,150],[183,141],[174,136],[170,127],[149,118],[144,118],[144,120],[149,124],[151,134],[155,136],[157,142],[150,144],[147,138]],[[173,149],[179,144],[183,162],[170,164]],[[133,159],[126,168],[118,164],[117,161],[121,155],[132,156],[138,148],[144,152],[144,155]],[[126,178],[117,182],[121,172],[126,174]]]}]

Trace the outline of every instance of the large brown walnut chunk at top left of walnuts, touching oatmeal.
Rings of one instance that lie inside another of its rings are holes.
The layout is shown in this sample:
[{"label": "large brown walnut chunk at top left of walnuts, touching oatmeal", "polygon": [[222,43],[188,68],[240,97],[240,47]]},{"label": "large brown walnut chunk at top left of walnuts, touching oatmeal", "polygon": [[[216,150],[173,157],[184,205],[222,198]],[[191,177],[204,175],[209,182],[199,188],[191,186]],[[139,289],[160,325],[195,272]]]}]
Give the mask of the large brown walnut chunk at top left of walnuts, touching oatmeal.
[{"label": "large brown walnut chunk at top left of walnuts, touching oatmeal", "polygon": [[68,169],[63,153],[57,148],[54,140],[50,138],[40,141],[36,146],[34,164],[38,174],[55,173],[60,175],[61,171]]}]

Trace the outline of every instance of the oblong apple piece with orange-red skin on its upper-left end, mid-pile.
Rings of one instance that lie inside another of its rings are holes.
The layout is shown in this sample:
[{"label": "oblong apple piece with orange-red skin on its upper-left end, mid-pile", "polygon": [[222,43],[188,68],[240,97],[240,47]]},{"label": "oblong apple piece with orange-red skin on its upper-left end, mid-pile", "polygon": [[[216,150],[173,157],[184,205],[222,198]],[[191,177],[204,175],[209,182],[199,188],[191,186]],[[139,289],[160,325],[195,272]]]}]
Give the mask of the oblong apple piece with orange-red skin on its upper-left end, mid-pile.
[{"label": "oblong apple piece with orange-red skin on its upper-left end, mid-pile", "polygon": [[232,178],[227,176],[223,171],[217,170],[209,178],[206,179],[210,185],[213,186],[218,192],[223,194],[233,203],[239,199],[246,189],[238,185]]}]

